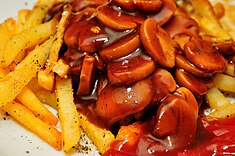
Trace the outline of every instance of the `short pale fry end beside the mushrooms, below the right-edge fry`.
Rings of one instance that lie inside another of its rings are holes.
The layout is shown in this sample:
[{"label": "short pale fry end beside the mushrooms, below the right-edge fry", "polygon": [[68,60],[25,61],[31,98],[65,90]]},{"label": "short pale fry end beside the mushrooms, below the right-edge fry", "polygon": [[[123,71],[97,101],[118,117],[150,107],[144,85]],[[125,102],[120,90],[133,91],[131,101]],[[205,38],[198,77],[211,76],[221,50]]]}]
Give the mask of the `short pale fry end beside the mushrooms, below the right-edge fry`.
[{"label": "short pale fry end beside the mushrooms, below the right-edge fry", "polygon": [[217,87],[212,87],[207,91],[206,100],[210,107],[216,110],[220,110],[221,107],[231,104]]}]

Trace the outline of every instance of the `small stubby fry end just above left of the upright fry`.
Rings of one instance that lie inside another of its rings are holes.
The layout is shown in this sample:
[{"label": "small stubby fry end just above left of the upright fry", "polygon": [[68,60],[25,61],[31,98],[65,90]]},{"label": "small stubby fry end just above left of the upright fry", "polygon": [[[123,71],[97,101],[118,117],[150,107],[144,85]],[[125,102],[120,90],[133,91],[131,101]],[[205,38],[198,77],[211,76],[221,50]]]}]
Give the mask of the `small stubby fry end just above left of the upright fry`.
[{"label": "small stubby fry end just above left of the upright fry", "polygon": [[47,73],[45,70],[38,72],[38,84],[46,90],[52,90],[54,87],[54,73]]}]

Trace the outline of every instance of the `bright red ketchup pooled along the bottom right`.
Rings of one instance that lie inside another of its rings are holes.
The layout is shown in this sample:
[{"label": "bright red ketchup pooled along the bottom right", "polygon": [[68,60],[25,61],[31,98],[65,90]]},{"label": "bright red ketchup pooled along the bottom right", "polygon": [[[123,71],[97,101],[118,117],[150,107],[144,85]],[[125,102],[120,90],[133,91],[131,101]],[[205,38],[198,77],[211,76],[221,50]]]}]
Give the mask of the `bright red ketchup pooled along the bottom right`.
[{"label": "bright red ketchup pooled along the bottom right", "polygon": [[173,149],[164,146],[161,139],[149,134],[151,122],[142,123],[138,141],[129,146],[126,140],[113,142],[104,156],[134,155],[230,155],[235,154],[235,118],[208,122],[198,120],[198,132],[195,142],[186,149]]}]

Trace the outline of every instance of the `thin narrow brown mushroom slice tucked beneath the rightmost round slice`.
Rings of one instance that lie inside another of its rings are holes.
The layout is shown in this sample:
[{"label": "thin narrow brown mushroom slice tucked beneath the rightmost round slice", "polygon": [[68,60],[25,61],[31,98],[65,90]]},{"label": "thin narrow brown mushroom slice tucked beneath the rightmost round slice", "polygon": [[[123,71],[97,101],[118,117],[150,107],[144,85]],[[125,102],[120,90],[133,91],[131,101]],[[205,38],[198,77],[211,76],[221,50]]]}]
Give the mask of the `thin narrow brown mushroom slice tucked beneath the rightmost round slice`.
[{"label": "thin narrow brown mushroom slice tucked beneath the rightmost round slice", "polygon": [[175,80],[180,86],[188,88],[195,95],[204,95],[207,91],[206,85],[199,78],[188,74],[182,69],[176,69]]}]

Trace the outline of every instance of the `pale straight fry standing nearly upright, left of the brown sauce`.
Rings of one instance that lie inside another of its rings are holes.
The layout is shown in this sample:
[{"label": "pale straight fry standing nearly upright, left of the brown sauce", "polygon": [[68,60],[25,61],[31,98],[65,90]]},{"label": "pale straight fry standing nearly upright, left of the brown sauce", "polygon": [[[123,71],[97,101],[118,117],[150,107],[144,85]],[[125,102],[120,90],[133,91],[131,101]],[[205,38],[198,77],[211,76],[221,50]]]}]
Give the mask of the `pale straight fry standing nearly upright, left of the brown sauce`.
[{"label": "pale straight fry standing nearly upright, left of the brown sauce", "polygon": [[64,151],[74,147],[80,140],[81,129],[78,112],[73,101],[72,80],[56,77],[56,97],[61,122]]}]

